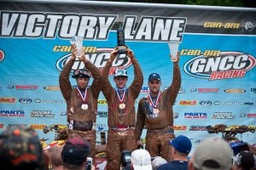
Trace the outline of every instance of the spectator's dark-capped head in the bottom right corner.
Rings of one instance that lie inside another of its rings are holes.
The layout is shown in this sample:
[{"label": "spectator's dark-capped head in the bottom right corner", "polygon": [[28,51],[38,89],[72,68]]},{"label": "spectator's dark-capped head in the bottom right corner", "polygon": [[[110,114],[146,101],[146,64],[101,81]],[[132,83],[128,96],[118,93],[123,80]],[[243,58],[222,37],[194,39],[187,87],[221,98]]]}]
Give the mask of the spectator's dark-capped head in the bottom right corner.
[{"label": "spectator's dark-capped head in the bottom right corner", "polygon": [[233,170],[250,170],[254,167],[254,163],[253,154],[243,150],[236,155]]}]

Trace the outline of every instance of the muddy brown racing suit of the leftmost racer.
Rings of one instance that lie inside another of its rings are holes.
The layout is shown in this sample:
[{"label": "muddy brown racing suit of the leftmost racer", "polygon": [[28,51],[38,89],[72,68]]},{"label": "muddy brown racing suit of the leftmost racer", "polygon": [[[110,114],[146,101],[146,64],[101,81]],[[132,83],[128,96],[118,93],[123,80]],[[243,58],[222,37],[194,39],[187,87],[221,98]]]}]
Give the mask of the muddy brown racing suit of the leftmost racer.
[{"label": "muddy brown racing suit of the leftmost racer", "polygon": [[[79,95],[77,88],[72,88],[69,81],[69,74],[75,59],[70,59],[67,65],[64,66],[60,75],[61,94],[67,101],[67,122],[70,128],[68,129],[68,138],[80,136],[90,143],[90,157],[96,154],[96,131],[94,125],[96,123],[97,99],[101,92],[102,74],[95,65],[87,60],[84,65],[94,78],[90,87],[87,87],[85,100]],[[83,110],[81,105],[88,105],[88,109]]]}]

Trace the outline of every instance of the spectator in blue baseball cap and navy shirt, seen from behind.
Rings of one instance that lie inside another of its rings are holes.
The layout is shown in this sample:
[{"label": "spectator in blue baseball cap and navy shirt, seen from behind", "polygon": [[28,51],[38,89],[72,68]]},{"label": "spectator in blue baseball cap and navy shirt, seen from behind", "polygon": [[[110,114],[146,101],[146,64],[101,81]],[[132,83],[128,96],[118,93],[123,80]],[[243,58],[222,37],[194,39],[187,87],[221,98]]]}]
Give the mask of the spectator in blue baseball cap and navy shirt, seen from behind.
[{"label": "spectator in blue baseball cap and navy shirt, seen from behind", "polygon": [[183,135],[170,140],[169,144],[172,146],[173,160],[169,163],[161,165],[158,170],[186,170],[189,164],[189,152],[191,150],[191,141]]}]

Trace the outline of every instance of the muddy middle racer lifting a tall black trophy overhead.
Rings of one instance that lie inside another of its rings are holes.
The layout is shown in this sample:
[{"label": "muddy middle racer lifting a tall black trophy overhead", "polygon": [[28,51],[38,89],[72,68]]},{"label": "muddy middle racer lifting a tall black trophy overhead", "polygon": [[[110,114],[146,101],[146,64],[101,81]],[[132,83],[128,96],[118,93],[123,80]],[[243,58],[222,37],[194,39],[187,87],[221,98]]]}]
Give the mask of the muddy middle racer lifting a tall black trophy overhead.
[{"label": "muddy middle racer lifting a tall black trophy overhead", "polygon": [[107,169],[111,170],[120,169],[122,150],[132,151],[137,149],[134,136],[135,100],[143,86],[143,72],[130,48],[126,49],[125,54],[131,59],[135,78],[131,86],[126,88],[127,71],[117,68],[113,77],[116,87],[111,86],[108,80],[108,72],[118,54],[118,48],[114,48],[102,71],[102,93],[108,101]]}]

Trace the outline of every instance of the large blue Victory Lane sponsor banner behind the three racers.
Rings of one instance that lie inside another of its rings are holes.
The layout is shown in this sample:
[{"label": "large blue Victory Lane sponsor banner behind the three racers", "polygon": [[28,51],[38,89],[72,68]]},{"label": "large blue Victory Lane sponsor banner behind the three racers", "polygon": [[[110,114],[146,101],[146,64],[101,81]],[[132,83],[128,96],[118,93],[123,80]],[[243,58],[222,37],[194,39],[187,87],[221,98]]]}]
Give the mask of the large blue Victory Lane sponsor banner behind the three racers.
[{"label": "large blue Victory Lane sponsor banner behind the three racers", "polygon": [[[55,133],[44,133],[42,129],[67,124],[67,104],[61,94],[59,75],[71,59],[70,39],[83,37],[85,57],[102,71],[117,45],[117,28],[122,26],[125,44],[143,70],[143,87],[134,105],[136,112],[139,99],[149,93],[151,73],[160,74],[161,91],[172,86],[175,75],[168,42],[176,40],[180,42],[182,87],[172,105],[175,135],[189,136],[195,147],[201,139],[218,136],[207,133],[208,125],[232,122],[249,126],[256,112],[255,15],[255,8],[168,4],[153,7],[148,3],[142,6],[71,0],[47,4],[1,2],[1,123],[8,127],[26,122],[38,129],[41,139],[54,140]],[[113,72],[119,66],[128,72],[129,88],[135,76],[131,59],[125,54],[118,54],[113,61],[109,81],[115,88]],[[76,59],[70,75],[82,68],[84,63]],[[70,78],[70,82],[73,88],[77,86],[75,79]],[[92,82],[93,77],[89,86]],[[100,93],[96,111],[99,144],[100,133],[108,131],[107,117],[108,102]],[[142,139],[145,136],[144,129]],[[254,141],[253,135],[242,134],[242,139],[249,144]]]}]

